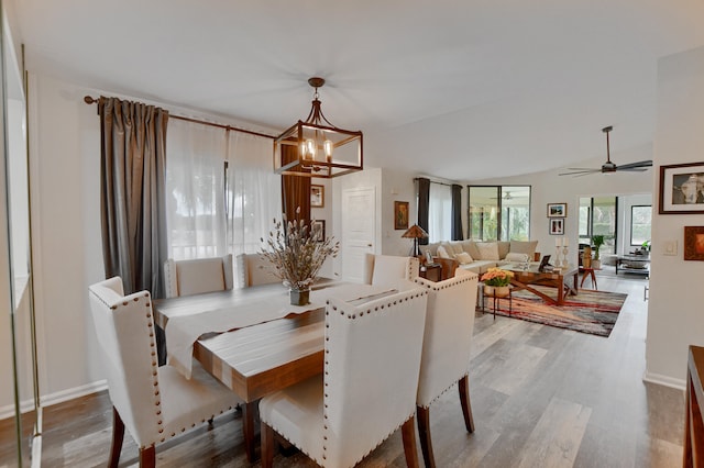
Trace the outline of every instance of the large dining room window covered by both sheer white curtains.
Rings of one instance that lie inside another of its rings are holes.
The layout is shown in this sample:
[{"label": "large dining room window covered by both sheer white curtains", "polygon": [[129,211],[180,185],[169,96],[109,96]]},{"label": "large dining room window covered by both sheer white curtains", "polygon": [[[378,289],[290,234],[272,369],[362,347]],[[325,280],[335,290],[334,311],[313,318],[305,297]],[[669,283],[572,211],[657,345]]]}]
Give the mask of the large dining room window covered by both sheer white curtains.
[{"label": "large dining room window covered by both sheer white curtains", "polygon": [[[174,259],[252,254],[282,218],[272,141],[170,120],[166,193]],[[238,276],[235,275],[235,278]]]}]

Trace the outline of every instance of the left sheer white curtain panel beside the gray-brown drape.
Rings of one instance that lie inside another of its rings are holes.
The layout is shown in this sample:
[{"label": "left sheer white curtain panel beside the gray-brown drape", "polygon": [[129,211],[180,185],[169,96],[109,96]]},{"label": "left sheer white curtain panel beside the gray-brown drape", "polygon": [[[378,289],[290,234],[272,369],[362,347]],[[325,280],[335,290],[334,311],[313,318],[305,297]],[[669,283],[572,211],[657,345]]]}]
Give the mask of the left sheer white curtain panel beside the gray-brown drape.
[{"label": "left sheer white curtain panel beside the gray-brown drape", "polygon": [[166,140],[169,257],[226,255],[223,129],[172,119]]}]

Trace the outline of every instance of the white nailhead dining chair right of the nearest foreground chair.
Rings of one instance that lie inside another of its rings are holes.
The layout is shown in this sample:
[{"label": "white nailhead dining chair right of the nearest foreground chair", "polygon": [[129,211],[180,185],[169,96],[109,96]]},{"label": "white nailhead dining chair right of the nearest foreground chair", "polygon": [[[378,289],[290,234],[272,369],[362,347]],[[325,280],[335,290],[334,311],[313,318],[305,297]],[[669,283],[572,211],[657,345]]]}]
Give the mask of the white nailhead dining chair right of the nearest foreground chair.
[{"label": "white nailhead dining chair right of the nearest foreground chair", "polygon": [[462,268],[454,275],[439,282],[425,278],[415,280],[429,292],[416,401],[426,467],[436,466],[430,438],[430,404],[455,382],[459,382],[464,425],[468,432],[474,432],[468,376],[479,276]]}]

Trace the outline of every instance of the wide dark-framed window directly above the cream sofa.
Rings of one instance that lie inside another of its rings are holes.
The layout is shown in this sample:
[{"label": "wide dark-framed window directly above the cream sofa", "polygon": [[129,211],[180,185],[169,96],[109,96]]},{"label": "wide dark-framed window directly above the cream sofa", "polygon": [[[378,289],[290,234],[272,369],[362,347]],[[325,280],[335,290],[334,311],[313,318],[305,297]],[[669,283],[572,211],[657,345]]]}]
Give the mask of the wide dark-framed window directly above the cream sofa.
[{"label": "wide dark-framed window directly above the cream sofa", "polygon": [[470,186],[469,189],[470,238],[530,238],[530,186]]}]

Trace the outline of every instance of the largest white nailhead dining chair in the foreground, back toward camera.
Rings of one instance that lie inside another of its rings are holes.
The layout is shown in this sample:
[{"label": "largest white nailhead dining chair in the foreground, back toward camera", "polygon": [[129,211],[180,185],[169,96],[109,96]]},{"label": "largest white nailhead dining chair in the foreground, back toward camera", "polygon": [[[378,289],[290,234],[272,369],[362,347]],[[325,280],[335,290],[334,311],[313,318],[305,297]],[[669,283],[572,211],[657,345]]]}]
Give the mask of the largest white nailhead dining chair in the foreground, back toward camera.
[{"label": "largest white nailhead dining chair in the foreground, back toward camera", "polygon": [[415,417],[427,292],[414,288],[359,307],[326,307],[324,372],[260,402],[262,466],[274,432],[329,467],[351,467],[402,426],[418,466]]}]

